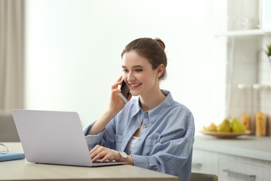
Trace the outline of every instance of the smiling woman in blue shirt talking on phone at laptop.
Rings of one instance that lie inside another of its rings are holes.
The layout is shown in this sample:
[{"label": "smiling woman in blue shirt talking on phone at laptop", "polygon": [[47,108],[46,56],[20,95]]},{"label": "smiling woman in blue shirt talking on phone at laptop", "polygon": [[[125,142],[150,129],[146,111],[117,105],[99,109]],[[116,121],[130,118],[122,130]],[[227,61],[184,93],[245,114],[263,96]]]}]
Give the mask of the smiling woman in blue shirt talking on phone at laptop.
[{"label": "smiling woman in blue shirt talking on phone at laptop", "polygon": [[[195,125],[190,110],[161,90],[167,56],[159,39],[139,38],[122,52],[122,76],[111,87],[108,110],[85,128],[92,161],[128,162],[189,180]],[[129,102],[119,97],[122,80]],[[137,98],[131,99],[131,97]]]}]

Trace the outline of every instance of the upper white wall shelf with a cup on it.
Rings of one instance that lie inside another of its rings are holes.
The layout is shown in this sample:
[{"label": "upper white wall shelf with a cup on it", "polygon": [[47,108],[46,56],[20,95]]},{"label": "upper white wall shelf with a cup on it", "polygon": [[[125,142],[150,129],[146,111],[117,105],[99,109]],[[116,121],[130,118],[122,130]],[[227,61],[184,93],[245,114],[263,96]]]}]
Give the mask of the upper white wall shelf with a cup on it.
[{"label": "upper white wall shelf with a cup on it", "polygon": [[236,30],[236,31],[227,31],[224,33],[217,33],[215,37],[233,37],[233,36],[262,36],[265,34],[271,34],[271,30],[263,30],[263,29],[248,29],[248,30]]}]

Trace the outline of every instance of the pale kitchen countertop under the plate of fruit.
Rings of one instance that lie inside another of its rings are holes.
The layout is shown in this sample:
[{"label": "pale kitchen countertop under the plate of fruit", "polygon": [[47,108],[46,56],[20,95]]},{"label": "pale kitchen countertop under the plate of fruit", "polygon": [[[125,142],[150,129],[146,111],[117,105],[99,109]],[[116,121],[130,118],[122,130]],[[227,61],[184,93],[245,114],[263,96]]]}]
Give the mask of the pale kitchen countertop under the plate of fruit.
[{"label": "pale kitchen countertop under the plate of fruit", "polygon": [[194,148],[224,154],[271,161],[271,136],[238,136],[236,139],[216,139],[196,135]]}]

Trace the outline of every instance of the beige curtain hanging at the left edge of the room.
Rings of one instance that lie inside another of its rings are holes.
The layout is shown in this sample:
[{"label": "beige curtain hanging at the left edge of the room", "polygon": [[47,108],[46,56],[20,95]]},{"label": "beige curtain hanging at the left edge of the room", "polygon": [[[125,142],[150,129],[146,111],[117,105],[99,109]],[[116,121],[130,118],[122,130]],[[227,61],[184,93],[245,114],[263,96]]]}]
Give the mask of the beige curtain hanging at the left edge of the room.
[{"label": "beige curtain hanging at the left edge of the room", "polygon": [[24,0],[0,0],[0,109],[24,106]]}]

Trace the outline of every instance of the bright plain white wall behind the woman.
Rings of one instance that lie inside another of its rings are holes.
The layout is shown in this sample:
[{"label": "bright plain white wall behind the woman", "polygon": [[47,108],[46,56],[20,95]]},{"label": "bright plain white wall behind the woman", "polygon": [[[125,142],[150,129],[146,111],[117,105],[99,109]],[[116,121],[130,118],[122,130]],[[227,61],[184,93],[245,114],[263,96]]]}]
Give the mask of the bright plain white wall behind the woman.
[{"label": "bright plain white wall behind the woman", "polygon": [[224,5],[211,0],[26,1],[25,108],[77,111],[88,125],[108,105],[110,86],[122,74],[125,45],[159,37],[168,58],[161,88],[191,109],[197,129],[220,123],[226,47],[213,33],[226,19]]}]

